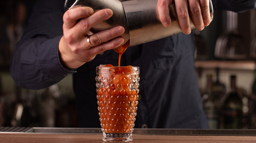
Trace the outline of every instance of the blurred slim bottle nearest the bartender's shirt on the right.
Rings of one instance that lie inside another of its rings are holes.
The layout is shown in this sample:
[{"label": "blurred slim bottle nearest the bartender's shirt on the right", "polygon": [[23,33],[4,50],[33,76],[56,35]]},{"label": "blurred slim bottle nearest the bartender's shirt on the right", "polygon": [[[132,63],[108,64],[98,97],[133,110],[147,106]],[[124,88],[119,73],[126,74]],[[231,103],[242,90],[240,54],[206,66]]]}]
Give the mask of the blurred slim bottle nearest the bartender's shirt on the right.
[{"label": "blurred slim bottle nearest the bartender's shirt on the right", "polygon": [[218,110],[212,96],[212,75],[207,74],[207,85],[203,94],[203,109],[211,129],[218,128]]}]

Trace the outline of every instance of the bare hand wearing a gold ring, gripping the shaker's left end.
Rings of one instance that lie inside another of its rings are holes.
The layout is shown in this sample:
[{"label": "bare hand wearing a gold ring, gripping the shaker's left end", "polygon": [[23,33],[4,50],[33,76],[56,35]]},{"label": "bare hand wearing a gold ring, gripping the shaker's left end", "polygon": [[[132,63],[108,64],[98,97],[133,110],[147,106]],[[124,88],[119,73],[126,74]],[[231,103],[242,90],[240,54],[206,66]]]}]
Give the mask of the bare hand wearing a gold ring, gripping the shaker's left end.
[{"label": "bare hand wearing a gold ring, gripping the shaker's left end", "polygon": [[[94,59],[97,54],[117,48],[123,43],[123,38],[116,38],[124,33],[122,26],[91,35],[89,40],[92,47],[87,42],[89,29],[109,19],[112,15],[111,9],[103,9],[94,13],[89,7],[73,8],[64,13],[63,37],[59,42],[60,61],[64,67],[75,69]],[[77,22],[79,19],[81,20]]]}]

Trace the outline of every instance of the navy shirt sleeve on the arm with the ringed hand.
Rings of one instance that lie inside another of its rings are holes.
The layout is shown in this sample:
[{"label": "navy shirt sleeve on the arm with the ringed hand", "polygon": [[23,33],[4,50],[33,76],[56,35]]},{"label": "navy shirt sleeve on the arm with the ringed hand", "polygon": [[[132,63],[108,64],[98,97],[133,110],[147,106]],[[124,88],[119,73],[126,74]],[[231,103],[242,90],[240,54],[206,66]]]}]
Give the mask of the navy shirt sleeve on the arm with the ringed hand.
[{"label": "navy shirt sleeve on the arm with the ringed hand", "polygon": [[28,28],[11,58],[11,76],[17,86],[42,89],[76,72],[63,67],[59,59],[63,5],[63,0],[38,0],[35,4]]}]

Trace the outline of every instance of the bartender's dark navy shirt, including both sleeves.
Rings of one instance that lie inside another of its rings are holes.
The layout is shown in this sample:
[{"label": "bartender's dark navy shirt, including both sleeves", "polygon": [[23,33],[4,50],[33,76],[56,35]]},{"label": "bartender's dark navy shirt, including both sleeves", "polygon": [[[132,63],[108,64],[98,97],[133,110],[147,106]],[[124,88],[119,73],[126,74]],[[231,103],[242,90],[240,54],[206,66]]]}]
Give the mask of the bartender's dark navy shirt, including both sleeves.
[{"label": "bartender's dark navy shirt, including both sleeves", "polygon": [[[212,0],[218,9],[255,7],[255,0]],[[28,28],[11,59],[15,84],[27,89],[49,87],[73,74],[80,127],[100,127],[96,99],[96,66],[118,65],[118,54],[108,50],[71,70],[59,60],[63,36],[64,0],[38,0]],[[140,67],[139,104],[135,127],[208,128],[194,67],[193,35],[178,34],[129,47],[121,66]]]}]

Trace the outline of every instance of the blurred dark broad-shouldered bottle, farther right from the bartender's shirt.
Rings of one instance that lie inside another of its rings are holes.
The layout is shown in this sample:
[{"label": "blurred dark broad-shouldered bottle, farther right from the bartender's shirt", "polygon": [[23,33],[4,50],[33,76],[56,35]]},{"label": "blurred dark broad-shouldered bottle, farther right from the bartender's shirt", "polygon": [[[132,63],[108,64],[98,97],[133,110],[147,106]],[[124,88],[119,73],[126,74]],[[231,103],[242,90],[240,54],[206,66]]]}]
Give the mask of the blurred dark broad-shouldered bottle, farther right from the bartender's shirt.
[{"label": "blurred dark broad-shouldered bottle, farther right from the bartender's shirt", "polygon": [[231,91],[224,96],[223,119],[224,129],[241,129],[242,128],[242,95],[237,92],[236,76],[230,76]]}]

